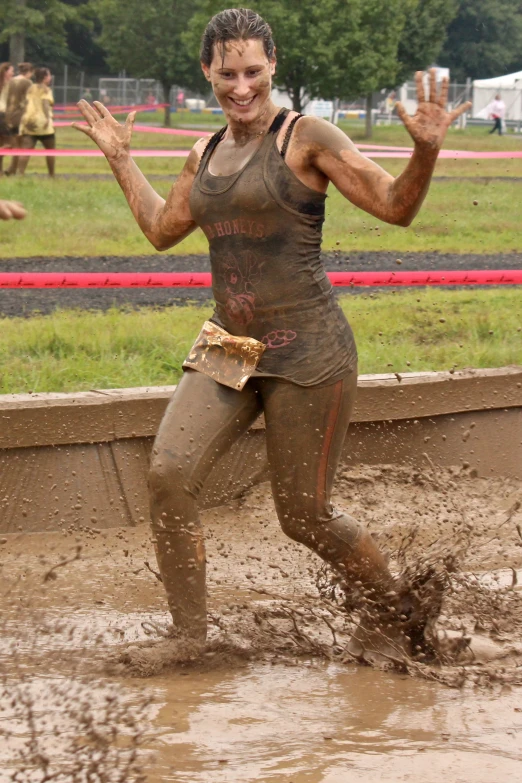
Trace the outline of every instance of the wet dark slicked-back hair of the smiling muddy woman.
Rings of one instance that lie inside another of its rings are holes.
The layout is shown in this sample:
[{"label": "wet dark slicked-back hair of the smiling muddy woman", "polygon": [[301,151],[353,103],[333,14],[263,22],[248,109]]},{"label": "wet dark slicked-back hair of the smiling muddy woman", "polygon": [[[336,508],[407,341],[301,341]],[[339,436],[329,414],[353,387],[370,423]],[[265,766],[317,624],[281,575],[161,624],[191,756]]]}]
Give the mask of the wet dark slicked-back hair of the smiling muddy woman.
[{"label": "wet dark slicked-back hair of the smiling muddy woman", "polygon": [[252,38],[263,42],[265,54],[271,60],[275,46],[270,25],[249,8],[227,8],[213,16],[205,27],[199,58],[203,65],[210,67],[215,45],[224,51],[227,41],[249,41]]}]

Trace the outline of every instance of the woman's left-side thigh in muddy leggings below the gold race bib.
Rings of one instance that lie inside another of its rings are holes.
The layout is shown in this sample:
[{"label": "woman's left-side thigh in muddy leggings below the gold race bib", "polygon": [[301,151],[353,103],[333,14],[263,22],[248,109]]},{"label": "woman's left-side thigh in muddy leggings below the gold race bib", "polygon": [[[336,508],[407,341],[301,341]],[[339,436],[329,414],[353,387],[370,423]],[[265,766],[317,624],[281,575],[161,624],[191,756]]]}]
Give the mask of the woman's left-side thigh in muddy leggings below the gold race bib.
[{"label": "woman's left-side thigh in muddy leggings below the gold race bib", "polygon": [[153,472],[175,472],[192,494],[198,494],[214,464],[259,412],[259,395],[248,383],[239,392],[187,370],[159,426]]}]

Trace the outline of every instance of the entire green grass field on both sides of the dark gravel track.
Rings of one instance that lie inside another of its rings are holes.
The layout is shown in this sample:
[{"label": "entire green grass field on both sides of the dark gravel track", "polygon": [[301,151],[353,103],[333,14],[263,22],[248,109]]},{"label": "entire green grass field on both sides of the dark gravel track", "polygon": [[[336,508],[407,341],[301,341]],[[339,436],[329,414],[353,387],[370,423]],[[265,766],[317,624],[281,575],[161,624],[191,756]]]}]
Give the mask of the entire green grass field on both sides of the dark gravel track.
[{"label": "entire green grass field on both sides of the dark gravel track", "polygon": [[[148,117],[149,121],[153,118]],[[222,118],[174,115],[178,125],[219,127]],[[357,141],[360,126],[345,125]],[[376,144],[409,145],[404,129],[375,129]],[[135,147],[191,146],[189,137],[136,134]],[[59,129],[58,146],[89,147],[71,129]],[[484,129],[451,130],[447,148],[519,149],[522,138],[488,136]],[[165,196],[183,161],[141,159],[154,187]],[[397,175],[405,161],[382,161]],[[103,159],[58,160],[67,178],[4,178],[4,198],[24,202],[28,218],[0,225],[0,256],[154,254],[139,232]],[[43,159],[30,171],[45,171]],[[75,176],[91,174],[94,177]],[[352,207],[334,190],[327,201],[324,248],[450,253],[520,252],[521,160],[440,161],[419,218],[408,228],[380,223]],[[96,175],[107,175],[96,179]],[[502,181],[499,177],[510,178]],[[495,178],[495,179],[491,179]],[[474,202],[477,202],[476,204]],[[206,253],[196,231],[173,252]],[[14,262],[16,264],[16,262]],[[16,266],[15,266],[16,268]],[[360,351],[360,371],[405,372],[522,363],[522,297],[514,289],[387,292],[344,296]],[[57,312],[31,319],[3,319],[0,330],[0,392],[76,391],[175,383],[210,307],[107,313]]]}]

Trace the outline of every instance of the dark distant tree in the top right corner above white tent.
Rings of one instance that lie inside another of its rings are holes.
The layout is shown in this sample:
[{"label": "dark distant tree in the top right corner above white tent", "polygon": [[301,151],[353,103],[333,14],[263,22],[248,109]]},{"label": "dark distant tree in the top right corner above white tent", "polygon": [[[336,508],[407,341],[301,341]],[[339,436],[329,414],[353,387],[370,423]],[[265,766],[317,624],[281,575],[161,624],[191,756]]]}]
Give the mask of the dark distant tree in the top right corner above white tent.
[{"label": "dark distant tree in the top right corner above white tent", "polygon": [[442,60],[461,82],[522,69],[521,0],[460,0]]}]

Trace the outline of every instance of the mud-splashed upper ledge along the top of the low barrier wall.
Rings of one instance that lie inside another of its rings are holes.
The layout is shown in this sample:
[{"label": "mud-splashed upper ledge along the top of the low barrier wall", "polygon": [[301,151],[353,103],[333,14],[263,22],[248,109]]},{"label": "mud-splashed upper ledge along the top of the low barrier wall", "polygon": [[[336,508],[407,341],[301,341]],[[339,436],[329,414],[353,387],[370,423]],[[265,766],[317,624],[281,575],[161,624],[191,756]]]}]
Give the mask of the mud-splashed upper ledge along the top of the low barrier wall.
[{"label": "mud-splashed upper ledge along the top of the low barrier wall", "polygon": [[[0,395],[0,449],[154,436],[175,388]],[[361,375],[353,421],[395,421],[521,406],[522,367]],[[263,426],[262,419],[259,426]]]}]

